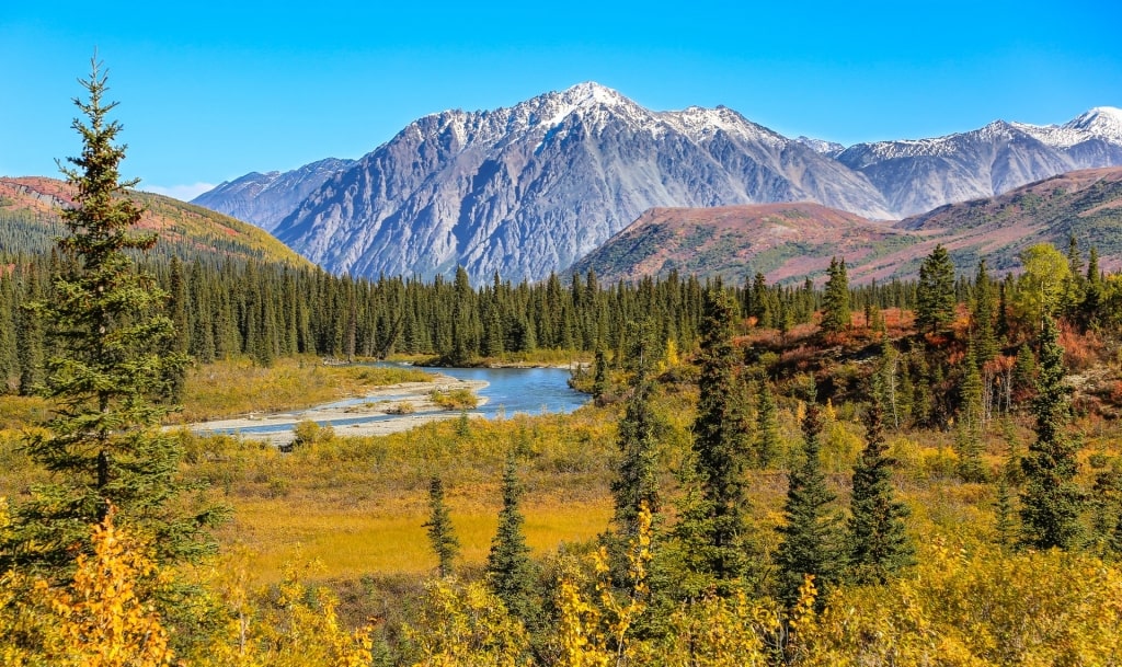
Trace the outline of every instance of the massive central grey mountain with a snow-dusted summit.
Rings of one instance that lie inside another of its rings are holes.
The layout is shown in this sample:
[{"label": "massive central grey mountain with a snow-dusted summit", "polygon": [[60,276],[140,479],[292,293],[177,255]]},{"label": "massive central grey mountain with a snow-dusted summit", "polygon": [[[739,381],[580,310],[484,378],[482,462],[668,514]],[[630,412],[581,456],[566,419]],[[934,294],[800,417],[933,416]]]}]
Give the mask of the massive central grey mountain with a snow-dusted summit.
[{"label": "massive central grey mountain with a snow-dusted summit", "polygon": [[803,200],[892,216],[864,176],[730,109],[653,112],[583,83],[422,118],[275,233],[330,271],[540,279],[653,206]]}]

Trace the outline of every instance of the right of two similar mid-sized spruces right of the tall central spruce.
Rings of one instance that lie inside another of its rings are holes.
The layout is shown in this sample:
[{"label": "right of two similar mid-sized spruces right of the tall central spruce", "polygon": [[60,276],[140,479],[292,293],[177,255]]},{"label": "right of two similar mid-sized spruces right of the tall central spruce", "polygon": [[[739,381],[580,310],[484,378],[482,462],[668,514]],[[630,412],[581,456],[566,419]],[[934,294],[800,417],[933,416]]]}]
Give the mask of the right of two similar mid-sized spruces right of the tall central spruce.
[{"label": "right of two similar mid-sized spruces right of the tall central spruce", "polygon": [[881,402],[868,410],[865,448],[853,471],[849,500],[849,566],[858,583],[885,583],[912,563],[914,548],[904,528],[908,506],[895,499],[892,466],[882,428]]}]

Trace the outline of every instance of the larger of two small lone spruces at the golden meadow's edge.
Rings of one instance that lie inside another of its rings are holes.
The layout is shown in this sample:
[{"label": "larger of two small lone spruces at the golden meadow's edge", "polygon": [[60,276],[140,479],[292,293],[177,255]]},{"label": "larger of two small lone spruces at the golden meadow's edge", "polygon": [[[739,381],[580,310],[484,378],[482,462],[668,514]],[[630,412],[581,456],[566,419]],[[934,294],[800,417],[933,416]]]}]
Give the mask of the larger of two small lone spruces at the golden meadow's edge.
[{"label": "larger of two small lone spruces at the golden meadow's edge", "polygon": [[533,627],[537,624],[541,604],[535,600],[536,573],[522,531],[524,520],[518,509],[522,491],[512,454],[503,470],[503,509],[498,513],[498,530],[491,540],[486,573],[488,585],[507,611],[526,627]]}]

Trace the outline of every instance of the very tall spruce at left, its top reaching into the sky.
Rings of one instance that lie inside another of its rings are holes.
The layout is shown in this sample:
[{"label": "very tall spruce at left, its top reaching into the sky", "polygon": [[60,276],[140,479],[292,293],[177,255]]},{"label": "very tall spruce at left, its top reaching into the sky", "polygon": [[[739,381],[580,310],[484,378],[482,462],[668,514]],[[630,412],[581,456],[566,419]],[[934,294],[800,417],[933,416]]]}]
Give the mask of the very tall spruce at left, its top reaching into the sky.
[{"label": "very tall spruce at left, its top reaching into the sky", "polygon": [[33,435],[27,452],[53,473],[18,511],[17,558],[48,568],[73,563],[74,548],[89,548],[89,526],[117,509],[117,524],[151,540],[158,563],[206,550],[206,528],[221,512],[186,516],[177,499],[178,439],[162,433],[169,406],[168,378],[185,362],[166,353],[174,337],[163,314],[167,299],[153,276],[137,269],[128,251],[144,252],[154,234],[137,234],[141,211],[129,198],[119,164],[125,147],[113,142],[120,123],[107,115],[107,84],[94,58],[88,100],[75,100],[84,119],[80,157],[61,166],[74,189],[62,211],[67,234],[49,298],[36,309],[49,323],[58,352],[47,359],[45,393],[55,406],[46,434]]}]

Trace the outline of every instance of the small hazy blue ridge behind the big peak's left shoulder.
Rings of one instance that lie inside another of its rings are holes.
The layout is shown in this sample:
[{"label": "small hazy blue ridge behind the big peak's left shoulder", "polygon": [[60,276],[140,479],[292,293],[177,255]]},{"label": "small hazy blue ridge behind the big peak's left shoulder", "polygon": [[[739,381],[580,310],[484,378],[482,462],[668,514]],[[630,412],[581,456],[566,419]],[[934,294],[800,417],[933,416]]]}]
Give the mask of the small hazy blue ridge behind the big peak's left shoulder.
[{"label": "small hazy blue ridge behind the big peak's left shoulder", "polygon": [[355,164],[355,160],[328,158],[292,172],[251,172],[204,192],[192,204],[251,222],[267,232],[276,229],[307,195],[323,182]]}]

